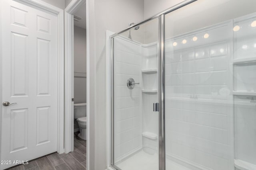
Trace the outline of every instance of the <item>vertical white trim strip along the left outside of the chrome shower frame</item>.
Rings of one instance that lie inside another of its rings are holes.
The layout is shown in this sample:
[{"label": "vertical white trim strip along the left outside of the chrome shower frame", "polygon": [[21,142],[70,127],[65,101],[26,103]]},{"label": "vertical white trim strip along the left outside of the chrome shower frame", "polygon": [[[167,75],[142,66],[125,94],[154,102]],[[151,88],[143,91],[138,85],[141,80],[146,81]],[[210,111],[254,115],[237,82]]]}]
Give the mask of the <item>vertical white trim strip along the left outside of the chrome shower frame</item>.
[{"label": "vertical white trim strip along the left outside of the chrome shower frame", "polygon": [[111,98],[110,98],[110,92],[111,92],[111,56],[110,56],[110,35],[113,35],[114,32],[111,32],[109,30],[106,30],[106,136],[107,136],[107,156],[106,156],[106,164],[107,167],[110,166],[110,158],[111,158],[111,143],[110,143],[110,131],[111,131]]}]

